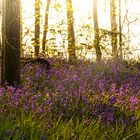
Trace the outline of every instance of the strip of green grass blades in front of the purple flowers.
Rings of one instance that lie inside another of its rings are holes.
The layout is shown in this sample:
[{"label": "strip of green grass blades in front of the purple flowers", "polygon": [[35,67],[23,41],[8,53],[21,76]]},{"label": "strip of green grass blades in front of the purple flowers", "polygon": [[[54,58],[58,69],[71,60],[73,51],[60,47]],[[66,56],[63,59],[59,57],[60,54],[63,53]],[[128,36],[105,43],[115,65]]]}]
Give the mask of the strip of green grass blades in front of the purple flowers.
[{"label": "strip of green grass blades in front of the purple flowers", "polygon": [[105,127],[100,119],[75,121],[71,118],[64,121],[62,117],[47,122],[45,116],[36,116],[33,113],[11,118],[8,115],[0,119],[1,140],[139,140],[140,120],[129,126]]}]

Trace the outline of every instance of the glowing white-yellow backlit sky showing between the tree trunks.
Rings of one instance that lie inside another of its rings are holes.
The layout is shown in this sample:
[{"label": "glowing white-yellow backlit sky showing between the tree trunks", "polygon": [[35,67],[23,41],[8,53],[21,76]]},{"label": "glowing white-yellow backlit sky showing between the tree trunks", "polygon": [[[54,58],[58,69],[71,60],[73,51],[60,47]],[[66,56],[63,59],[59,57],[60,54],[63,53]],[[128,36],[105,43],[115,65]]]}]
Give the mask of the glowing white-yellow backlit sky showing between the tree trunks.
[{"label": "glowing white-yellow backlit sky showing between the tree trunks", "polygon": [[[33,48],[32,40],[34,38],[34,1],[35,0],[21,0],[22,1],[22,18],[23,18],[23,31],[26,32],[26,35],[23,33],[23,44],[28,46],[27,49],[30,51]],[[130,49],[134,52],[133,55],[140,54],[140,10],[139,0],[128,0],[128,19],[132,22],[129,25],[131,43],[128,45]],[[46,0],[42,0],[41,5],[41,32],[43,31],[44,24],[44,13],[45,13]],[[55,8],[54,8],[55,7]],[[73,0],[74,8],[74,21],[75,21],[75,36],[77,45],[80,43],[86,43],[87,33],[84,31],[84,36],[78,37],[78,33],[82,25],[90,25],[93,27],[93,0]],[[122,0],[122,22],[123,24],[123,33],[127,33],[128,26],[126,24],[126,9],[125,9],[125,0]],[[110,7],[109,0],[98,0],[98,16],[99,16],[99,27],[102,29],[110,30]],[[118,20],[118,16],[117,16]],[[135,21],[135,22],[133,22]],[[49,13],[49,29],[67,30],[66,25],[61,24],[62,22],[66,23],[66,6],[65,0],[52,0],[51,8]],[[42,35],[41,35],[42,37]],[[91,39],[93,34],[90,35]],[[51,38],[51,34],[48,34],[47,38]],[[126,35],[127,38],[127,35]],[[56,45],[61,46],[63,41],[62,36],[56,34]]]}]

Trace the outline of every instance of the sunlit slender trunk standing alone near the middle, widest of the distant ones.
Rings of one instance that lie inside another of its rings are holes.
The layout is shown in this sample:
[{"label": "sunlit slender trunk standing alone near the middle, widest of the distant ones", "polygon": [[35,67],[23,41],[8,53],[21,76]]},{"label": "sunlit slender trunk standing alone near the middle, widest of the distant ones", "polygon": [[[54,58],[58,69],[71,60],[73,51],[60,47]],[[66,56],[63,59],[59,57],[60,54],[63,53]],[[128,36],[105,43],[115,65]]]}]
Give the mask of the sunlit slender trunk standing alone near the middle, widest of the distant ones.
[{"label": "sunlit slender trunk standing alone near the middle, widest of the distant ones", "polygon": [[67,7],[67,24],[68,24],[68,53],[69,61],[76,59],[75,53],[75,34],[74,34],[74,19],[73,19],[73,6],[72,0],[66,0]]}]

